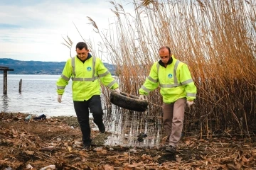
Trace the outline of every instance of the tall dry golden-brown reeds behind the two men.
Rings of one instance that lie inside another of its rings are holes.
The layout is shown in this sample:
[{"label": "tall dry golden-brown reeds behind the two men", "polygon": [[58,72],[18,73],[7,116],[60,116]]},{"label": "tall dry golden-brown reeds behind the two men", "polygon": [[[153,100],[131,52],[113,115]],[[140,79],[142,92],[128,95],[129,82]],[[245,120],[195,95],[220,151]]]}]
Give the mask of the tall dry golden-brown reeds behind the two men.
[{"label": "tall dry golden-brown reeds behind the two men", "polygon": [[[198,88],[195,105],[186,108],[184,131],[200,130],[201,137],[220,130],[255,135],[256,2],[125,2],[134,4],[133,13],[110,1],[115,23],[107,32],[88,18],[102,38],[100,55],[117,65],[121,91],[139,96],[151,64],[159,60],[159,47],[168,45],[178,60],[188,64]],[[107,89],[102,92],[110,96]],[[161,105],[156,89],[149,94],[147,115],[161,118]]]}]

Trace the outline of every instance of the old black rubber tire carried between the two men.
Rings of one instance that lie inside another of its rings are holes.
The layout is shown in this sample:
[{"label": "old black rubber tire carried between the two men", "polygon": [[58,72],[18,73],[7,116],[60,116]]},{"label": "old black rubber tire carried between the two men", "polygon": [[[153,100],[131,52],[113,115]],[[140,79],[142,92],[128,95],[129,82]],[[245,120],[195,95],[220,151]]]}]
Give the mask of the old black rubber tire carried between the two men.
[{"label": "old black rubber tire carried between the two men", "polygon": [[149,103],[145,100],[139,100],[138,96],[116,91],[112,91],[110,94],[110,102],[116,106],[129,109],[131,111],[144,112],[147,109]]}]

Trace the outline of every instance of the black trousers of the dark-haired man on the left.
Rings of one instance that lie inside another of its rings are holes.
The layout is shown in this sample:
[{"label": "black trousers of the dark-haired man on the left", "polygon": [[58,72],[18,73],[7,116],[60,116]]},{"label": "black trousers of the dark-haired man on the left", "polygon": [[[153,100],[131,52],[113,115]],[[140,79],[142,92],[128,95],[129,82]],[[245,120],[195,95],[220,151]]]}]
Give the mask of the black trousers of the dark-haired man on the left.
[{"label": "black trousers of the dark-haired man on the left", "polygon": [[102,105],[100,95],[92,96],[88,101],[74,101],[75,113],[78,117],[78,123],[82,131],[82,142],[84,145],[90,145],[90,122],[89,122],[89,109],[92,113],[94,123],[99,126],[103,124]]}]

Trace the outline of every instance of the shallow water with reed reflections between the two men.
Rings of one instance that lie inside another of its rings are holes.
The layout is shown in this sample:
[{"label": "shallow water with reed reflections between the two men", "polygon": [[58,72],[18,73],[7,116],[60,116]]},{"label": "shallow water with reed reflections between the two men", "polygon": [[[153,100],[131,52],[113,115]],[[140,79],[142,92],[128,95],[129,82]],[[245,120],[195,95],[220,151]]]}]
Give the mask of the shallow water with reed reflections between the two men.
[{"label": "shallow water with reed reflections between the two men", "polygon": [[[146,113],[127,111],[122,113],[119,108],[105,113],[105,126],[112,135],[105,145],[123,147],[160,147],[163,135],[161,121],[151,119]],[[139,140],[139,136],[146,135]]]}]

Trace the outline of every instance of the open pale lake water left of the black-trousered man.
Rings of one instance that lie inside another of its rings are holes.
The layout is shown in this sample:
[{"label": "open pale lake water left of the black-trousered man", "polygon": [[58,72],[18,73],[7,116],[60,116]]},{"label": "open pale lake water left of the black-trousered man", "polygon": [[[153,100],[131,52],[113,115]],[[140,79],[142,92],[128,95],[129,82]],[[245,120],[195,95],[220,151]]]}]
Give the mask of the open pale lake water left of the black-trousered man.
[{"label": "open pale lake water left of the black-trousered man", "polygon": [[[0,75],[1,108],[3,112],[21,112],[50,116],[75,115],[73,108],[72,81],[66,86],[62,103],[57,101],[56,81],[60,75],[8,74],[7,94],[3,94],[4,76]],[[21,93],[18,92],[22,79]]]}]

